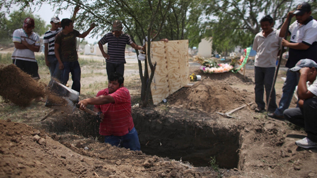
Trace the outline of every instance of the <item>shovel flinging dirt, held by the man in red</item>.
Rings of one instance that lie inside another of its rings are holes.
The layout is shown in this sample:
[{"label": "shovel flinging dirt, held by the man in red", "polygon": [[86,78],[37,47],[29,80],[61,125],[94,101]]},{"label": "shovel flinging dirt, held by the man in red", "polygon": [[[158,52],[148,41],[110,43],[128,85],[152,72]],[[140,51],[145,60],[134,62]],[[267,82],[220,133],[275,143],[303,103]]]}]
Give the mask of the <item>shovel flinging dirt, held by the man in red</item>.
[{"label": "shovel flinging dirt, held by the man in red", "polygon": [[[49,81],[47,87],[49,94],[45,102],[46,107],[61,110],[68,114],[72,113],[75,107],[79,108],[80,105],[77,104],[79,101],[79,92],[72,90],[55,80]],[[88,108],[83,111],[86,111],[93,116],[98,115]]]}]

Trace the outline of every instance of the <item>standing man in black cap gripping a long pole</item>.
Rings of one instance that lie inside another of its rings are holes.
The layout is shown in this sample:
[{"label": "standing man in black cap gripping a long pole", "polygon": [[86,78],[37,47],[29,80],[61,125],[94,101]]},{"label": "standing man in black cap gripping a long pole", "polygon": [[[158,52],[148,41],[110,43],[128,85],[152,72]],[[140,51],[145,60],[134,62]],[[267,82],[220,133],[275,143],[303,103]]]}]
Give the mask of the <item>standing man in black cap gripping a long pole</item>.
[{"label": "standing man in black cap gripping a long pole", "polygon": [[[282,39],[282,45],[289,48],[289,57],[285,65],[288,68],[294,67],[299,60],[305,58],[317,62],[317,21],[310,16],[311,13],[309,3],[300,3],[296,10],[288,12],[287,19],[282,25],[280,37],[284,37],[286,33],[289,18],[296,17],[297,21],[292,23],[288,30],[288,35],[291,35],[290,42]],[[291,103],[298,80],[298,73],[287,71],[279,107],[273,113],[268,113],[269,117],[283,118],[283,111]]]}]

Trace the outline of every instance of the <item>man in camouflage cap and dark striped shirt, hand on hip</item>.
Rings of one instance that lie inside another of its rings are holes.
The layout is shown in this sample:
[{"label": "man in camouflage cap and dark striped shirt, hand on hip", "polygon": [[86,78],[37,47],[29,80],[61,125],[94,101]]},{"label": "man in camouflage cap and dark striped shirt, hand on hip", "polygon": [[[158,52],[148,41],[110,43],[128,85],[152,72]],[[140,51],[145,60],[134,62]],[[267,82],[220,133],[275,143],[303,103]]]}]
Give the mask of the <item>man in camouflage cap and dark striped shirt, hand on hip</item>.
[{"label": "man in camouflage cap and dark striped shirt, hand on hip", "polygon": [[[108,76],[114,72],[124,74],[126,44],[136,50],[142,50],[143,48],[133,43],[130,36],[122,32],[122,28],[121,21],[115,20],[112,25],[112,31],[104,35],[98,42],[100,51],[107,62],[106,69]],[[103,49],[103,45],[106,43],[108,43],[107,53]]]}]

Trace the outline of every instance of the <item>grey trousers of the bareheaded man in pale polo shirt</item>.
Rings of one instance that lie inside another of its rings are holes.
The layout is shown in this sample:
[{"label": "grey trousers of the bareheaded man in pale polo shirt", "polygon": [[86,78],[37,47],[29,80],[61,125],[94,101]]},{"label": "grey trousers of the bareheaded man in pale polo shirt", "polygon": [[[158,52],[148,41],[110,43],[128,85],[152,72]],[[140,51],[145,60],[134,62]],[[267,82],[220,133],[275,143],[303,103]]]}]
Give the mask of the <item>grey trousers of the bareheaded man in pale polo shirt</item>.
[{"label": "grey trousers of the bareheaded man in pale polo shirt", "polygon": [[[271,92],[274,74],[275,67],[254,67],[254,80],[256,84],[256,86],[254,87],[254,91],[256,95],[256,104],[258,107],[261,107],[262,109],[265,108],[265,103],[263,101],[264,87],[266,93],[266,103],[268,103],[268,97]],[[271,100],[268,105],[268,111],[275,111],[275,109],[277,108],[275,100],[275,88],[273,88]]]}]

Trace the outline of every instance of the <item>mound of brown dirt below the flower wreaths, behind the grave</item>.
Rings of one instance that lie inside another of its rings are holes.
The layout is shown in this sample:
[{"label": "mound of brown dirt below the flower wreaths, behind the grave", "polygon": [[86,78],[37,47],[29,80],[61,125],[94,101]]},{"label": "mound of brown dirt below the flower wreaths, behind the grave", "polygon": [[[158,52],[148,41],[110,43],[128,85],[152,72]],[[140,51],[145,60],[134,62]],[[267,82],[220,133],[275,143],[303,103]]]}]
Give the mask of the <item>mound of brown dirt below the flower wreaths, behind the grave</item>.
[{"label": "mound of brown dirt below the flower wreaths, behind the grave", "polygon": [[[217,75],[217,74],[216,74]],[[205,112],[225,112],[245,103],[247,91],[233,89],[230,82],[223,82],[219,78],[236,82],[240,74],[223,73],[223,77],[211,78],[212,75],[205,74],[202,80],[195,83],[189,88],[181,88],[170,95],[167,100],[175,107],[185,107],[186,109],[195,109]],[[232,85],[232,84],[231,84]]]}]

